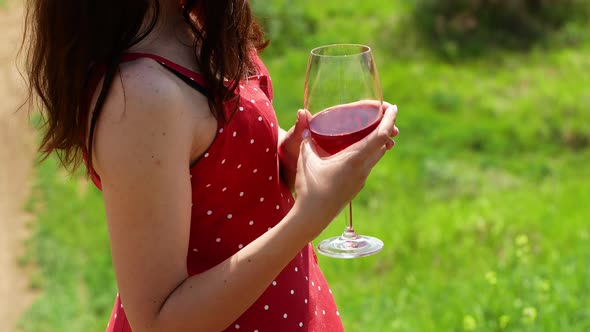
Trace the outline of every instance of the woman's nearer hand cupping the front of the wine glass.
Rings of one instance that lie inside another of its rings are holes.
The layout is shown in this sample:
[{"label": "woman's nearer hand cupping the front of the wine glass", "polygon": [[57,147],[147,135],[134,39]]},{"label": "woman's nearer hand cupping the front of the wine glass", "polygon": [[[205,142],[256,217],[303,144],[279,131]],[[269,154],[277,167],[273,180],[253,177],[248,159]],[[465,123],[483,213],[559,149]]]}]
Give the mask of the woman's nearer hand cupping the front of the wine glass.
[{"label": "woman's nearer hand cupping the front of the wine glass", "polygon": [[319,235],[364,186],[365,181],[399,132],[395,127],[397,107],[389,105],[379,126],[362,140],[334,155],[318,147],[304,132],[295,178],[296,208],[310,214],[303,225]]}]

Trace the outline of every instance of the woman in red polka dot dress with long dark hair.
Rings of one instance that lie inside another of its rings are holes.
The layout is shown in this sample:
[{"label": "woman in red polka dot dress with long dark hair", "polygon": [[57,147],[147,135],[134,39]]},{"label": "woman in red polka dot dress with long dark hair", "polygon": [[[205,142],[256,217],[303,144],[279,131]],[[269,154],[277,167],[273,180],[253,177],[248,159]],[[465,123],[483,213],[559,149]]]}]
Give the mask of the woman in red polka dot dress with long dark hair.
[{"label": "woman in red polka dot dress with long dark hair", "polygon": [[309,113],[281,130],[244,0],[31,0],[27,18],[40,149],[84,157],[103,193],[107,331],[343,330],[309,243],[393,147],[395,107],[330,157]]}]

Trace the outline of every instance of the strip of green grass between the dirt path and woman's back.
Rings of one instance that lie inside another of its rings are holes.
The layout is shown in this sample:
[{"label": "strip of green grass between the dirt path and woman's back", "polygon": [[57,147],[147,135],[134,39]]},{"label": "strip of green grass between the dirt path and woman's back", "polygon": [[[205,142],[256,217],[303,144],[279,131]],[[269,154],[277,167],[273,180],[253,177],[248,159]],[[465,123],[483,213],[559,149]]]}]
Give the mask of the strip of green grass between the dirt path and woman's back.
[{"label": "strip of green grass between the dirt path and woman's back", "polygon": [[25,261],[39,271],[41,297],[21,319],[24,331],[99,331],[106,327],[116,285],[98,190],[50,158],[36,168],[28,209],[37,219]]}]

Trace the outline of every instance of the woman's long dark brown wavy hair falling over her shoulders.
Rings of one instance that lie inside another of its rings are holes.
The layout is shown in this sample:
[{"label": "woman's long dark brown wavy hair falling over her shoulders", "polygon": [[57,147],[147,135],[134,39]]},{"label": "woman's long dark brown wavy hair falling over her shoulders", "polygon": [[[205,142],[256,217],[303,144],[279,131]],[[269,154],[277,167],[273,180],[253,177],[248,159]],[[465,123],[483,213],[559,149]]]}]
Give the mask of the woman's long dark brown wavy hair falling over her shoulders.
[{"label": "woman's long dark brown wavy hair falling over her shoulders", "polygon": [[[23,47],[28,99],[42,110],[43,159],[55,151],[71,170],[80,164],[91,113],[90,75],[99,66],[105,69],[94,109],[98,118],[121,54],[152,31],[159,9],[159,0],[27,0]],[[179,0],[179,10],[195,34],[195,57],[211,111],[226,120],[222,103],[256,70],[249,50],[266,46],[262,30],[245,0]],[[223,78],[232,83],[224,85]],[[89,136],[92,141],[93,133]],[[90,154],[91,143],[88,148]]]}]

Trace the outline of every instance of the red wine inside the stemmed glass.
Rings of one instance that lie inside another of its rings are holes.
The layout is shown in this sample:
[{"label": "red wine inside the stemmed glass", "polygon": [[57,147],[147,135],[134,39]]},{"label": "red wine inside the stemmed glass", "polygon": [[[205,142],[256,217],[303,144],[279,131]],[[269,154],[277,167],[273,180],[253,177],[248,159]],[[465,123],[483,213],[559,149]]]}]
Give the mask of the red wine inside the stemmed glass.
[{"label": "red wine inside the stemmed glass", "polygon": [[338,105],[317,113],[309,123],[311,137],[326,152],[337,153],[358,142],[381,121],[381,106]]}]

